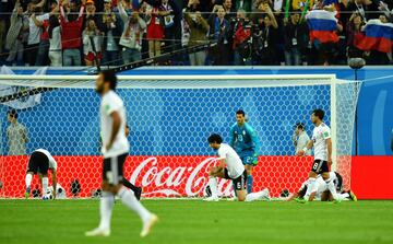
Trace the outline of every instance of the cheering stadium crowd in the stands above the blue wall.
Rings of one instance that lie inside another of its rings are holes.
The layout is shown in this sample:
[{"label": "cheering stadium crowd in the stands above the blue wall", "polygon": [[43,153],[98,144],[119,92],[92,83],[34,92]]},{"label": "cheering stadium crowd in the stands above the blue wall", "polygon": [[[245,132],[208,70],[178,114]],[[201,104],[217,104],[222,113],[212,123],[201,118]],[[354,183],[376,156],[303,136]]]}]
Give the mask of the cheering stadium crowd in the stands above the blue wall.
[{"label": "cheering stadium crowd in the stands above the blue wall", "polygon": [[[119,66],[214,42],[158,65],[327,66],[356,57],[389,65],[392,39],[388,53],[357,43],[368,21],[392,23],[392,8],[379,0],[2,0],[0,62]],[[334,13],[326,35],[337,38],[310,38],[306,16],[314,10]]]}]

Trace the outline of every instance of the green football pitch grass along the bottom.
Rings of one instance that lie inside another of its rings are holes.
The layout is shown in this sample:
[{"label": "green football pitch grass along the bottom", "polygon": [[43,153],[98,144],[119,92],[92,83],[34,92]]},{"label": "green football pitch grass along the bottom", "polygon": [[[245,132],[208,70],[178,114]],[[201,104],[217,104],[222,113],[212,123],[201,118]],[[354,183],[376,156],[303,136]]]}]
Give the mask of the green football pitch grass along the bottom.
[{"label": "green football pitch grass along the bottom", "polygon": [[119,200],[111,236],[85,237],[98,200],[0,200],[0,243],[393,243],[393,201],[143,200],[159,217],[151,235]]}]

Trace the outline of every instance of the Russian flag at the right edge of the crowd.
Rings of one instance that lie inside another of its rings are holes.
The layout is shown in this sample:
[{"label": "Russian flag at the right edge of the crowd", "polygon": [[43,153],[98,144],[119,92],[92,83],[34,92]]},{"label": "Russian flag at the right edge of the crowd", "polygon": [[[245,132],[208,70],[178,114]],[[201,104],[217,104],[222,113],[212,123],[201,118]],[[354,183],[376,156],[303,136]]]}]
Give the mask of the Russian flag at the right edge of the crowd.
[{"label": "Russian flag at the right edge of the crowd", "polygon": [[361,50],[379,50],[391,53],[393,46],[393,24],[382,23],[380,20],[369,20],[365,26],[365,34],[355,38],[355,46]]}]

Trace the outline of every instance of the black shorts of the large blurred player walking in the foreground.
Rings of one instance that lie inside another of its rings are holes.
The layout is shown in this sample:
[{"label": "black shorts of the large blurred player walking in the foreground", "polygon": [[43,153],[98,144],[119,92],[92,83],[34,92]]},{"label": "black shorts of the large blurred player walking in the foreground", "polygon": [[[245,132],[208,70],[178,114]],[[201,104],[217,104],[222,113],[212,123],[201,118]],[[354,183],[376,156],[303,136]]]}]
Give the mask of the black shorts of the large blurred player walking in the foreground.
[{"label": "black shorts of the large blurred player walking in the foreground", "polygon": [[123,165],[128,153],[106,158],[104,159],[103,165],[103,179],[109,184],[117,185],[123,179]]}]

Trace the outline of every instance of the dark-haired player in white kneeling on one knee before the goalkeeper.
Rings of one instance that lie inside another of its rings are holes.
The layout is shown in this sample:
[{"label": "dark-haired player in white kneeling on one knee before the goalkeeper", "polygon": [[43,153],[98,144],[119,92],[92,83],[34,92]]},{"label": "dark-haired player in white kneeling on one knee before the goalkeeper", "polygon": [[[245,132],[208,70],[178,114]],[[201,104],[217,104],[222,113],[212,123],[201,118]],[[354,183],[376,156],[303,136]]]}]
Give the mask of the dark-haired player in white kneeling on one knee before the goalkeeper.
[{"label": "dark-haired player in white kneeling on one knee before the goalkeeper", "polygon": [[212,191],[212,196],[205,198],[206,201],[217,201],[218,200],[218,189],[217,189],[217,178],[231,179],[236,190],[236,196],[239,201],[253,201],[269,199],[269,190],[263,189],[259,193],[248,194],[246,190],[246,181],[247,172],[245,165],[242,164],[239,155],[236,151],[226,143],[223,143],[223,138],[213,133],[207,138],[209,144],[212,149],[216,150],[218,153],[218,166],[213,166],[209,173],[209,186]]}]

